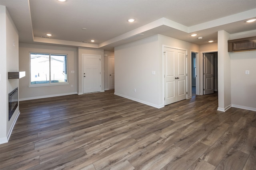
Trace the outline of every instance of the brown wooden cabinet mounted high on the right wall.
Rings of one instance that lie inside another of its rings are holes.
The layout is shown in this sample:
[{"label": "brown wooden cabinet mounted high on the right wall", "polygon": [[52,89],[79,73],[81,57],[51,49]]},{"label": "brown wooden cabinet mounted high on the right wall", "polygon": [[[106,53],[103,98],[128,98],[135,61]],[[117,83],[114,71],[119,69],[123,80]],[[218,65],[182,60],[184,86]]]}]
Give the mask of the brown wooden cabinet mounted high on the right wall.
[{"label": "brown wooden cabinet mounted high on the right wall", "polygon": [[256,36],[228,40],[228,52],[256,50]]}]

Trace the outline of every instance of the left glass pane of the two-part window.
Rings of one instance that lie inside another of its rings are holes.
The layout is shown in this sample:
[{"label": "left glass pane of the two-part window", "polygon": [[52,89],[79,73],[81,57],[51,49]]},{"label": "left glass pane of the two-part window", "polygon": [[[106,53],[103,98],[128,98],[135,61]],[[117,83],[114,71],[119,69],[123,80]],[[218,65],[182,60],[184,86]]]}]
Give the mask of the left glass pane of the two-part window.
[{"label": "left glass pane of the two-part window", "polygon": [[31,84],[50,83],[50,55],[30,53]]}]

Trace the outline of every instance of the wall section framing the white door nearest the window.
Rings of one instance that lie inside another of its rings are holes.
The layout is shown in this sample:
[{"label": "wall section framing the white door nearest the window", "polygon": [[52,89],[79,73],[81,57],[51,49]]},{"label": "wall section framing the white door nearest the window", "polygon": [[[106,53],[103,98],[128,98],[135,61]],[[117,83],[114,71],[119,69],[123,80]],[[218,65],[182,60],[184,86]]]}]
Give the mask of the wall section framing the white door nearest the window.
[{"label": "wall section framing the white door nearest the window", "polygon": [[[85,47],[78,47],[78,94],[83,94],[83,68],[82,55],[100,55],[101,56],[101,70],[104,72],[104,50],[92,49]],[[101,90],[104,91],[104,74],[101,74]]]}]

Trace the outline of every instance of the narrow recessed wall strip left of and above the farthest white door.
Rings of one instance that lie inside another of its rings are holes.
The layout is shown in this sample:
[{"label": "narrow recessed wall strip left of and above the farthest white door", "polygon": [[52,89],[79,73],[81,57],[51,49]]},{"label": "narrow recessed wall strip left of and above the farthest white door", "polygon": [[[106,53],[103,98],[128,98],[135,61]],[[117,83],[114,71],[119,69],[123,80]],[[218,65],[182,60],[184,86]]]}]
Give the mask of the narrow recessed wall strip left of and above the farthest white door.
[{"label": "narrow recessed wall strip left of and above the farthest white door", "polygon": [[115,57],[113,51],[104,51],[104,90],[109,90],[108,57]]}]

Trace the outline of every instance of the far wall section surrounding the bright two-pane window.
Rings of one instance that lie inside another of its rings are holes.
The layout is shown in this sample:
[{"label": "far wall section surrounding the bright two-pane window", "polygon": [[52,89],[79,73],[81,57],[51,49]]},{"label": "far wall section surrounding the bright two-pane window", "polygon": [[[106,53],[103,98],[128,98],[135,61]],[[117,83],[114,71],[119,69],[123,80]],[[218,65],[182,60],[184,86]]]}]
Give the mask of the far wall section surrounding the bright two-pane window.
[{"label": "far wall section surrounding the bright two-pane window", "polygon": [[[30,52],[57,53],[68,55],[68,84],[57,86],[29,87],[30,84]],[[37,45],[20,43],[20,71],[26,71],[26,76],[20,79],[20,100],[77,94],[77,49],[52,45]],[[74,73],[71,73],[74,70]],[[71,87],[73,85],[73,87]]]}]

